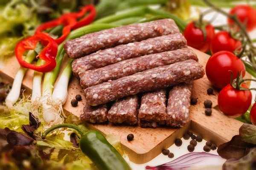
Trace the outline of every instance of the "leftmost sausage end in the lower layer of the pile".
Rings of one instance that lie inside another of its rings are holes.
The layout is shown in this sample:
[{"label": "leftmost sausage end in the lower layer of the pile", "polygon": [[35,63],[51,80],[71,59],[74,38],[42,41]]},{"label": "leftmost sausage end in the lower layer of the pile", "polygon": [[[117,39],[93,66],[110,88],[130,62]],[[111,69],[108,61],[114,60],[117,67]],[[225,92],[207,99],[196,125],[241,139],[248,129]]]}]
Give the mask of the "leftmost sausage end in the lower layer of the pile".
[{"label": "leftmost sausage end in the lower layer of the pile", "polygon": [[107,105],[91,106],[86,103],[80,120],[83,122],[103,123],[108,121],[107,114]]}]

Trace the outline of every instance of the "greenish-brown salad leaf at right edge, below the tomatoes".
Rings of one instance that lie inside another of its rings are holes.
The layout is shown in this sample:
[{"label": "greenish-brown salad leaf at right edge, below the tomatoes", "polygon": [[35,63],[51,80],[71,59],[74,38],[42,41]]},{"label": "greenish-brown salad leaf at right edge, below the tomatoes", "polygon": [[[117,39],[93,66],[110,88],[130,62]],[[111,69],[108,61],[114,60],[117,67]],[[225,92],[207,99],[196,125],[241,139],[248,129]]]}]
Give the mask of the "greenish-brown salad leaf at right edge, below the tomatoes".
[{"label": "greenish-brown salad leaf at right edge, below the tomatoes", "polygon": [[239,129],[239,136],[244,142],[256,144],[256,126],[244,123]]}]

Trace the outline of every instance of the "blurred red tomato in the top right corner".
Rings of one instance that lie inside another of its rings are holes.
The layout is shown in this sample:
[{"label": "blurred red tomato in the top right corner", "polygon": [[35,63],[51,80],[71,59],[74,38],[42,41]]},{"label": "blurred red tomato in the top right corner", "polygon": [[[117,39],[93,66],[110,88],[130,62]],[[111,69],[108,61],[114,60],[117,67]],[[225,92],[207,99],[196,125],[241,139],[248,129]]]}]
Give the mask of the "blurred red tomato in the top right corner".
[{"label": "blurred red tomato in the top right corner", "polygon": [[[252,31],[256,27],[256,10],[248,5],[239,5],[230,10],[230,14],[236,14],[241,23],[246,23],[247,31]],[[229,24],[234,23],[230,18]]]}]

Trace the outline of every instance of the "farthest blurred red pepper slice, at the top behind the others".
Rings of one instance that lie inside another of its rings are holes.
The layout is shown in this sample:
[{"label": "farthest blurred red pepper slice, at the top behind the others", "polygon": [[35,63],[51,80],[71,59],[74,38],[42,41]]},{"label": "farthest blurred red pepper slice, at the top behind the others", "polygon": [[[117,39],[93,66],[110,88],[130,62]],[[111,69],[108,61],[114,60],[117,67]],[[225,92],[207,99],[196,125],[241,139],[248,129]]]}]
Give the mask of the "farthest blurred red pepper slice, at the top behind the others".
[{"label": "farthest blurred red pepper slice, at the top behind the others", "polygon": [[[90,13],[86,17],[84,17],[84,15],[88,11],[90,11]],[[76,19],[84,17],[83,19],[79,20],[75,26],[72,27],[72,29],[74,30],[76,28],[80,28],[82,26],[86,26],[86,25],[92,23],[96,17],[96,8],[93,5],[87,5],[87,6],[82,7],[79,12],[67,13],[62,16],[65,16],[65,15],[75,17]]]}]

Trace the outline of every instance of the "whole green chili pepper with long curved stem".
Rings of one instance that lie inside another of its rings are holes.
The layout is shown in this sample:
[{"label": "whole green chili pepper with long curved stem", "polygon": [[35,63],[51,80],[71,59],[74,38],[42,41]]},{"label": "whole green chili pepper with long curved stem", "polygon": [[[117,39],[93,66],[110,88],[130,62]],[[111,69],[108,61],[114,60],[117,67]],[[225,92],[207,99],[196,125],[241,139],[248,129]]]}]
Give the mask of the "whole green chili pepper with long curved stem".
[{"label": "whole green chili pepper with long curved stem", "polygon": [[44,131],[42,139],[45,139],[52,130],[62,127],[71,128],[80,133],[81,151],[94,162],[99,170],[131,170],[125,159],[98,130],[86,131],[76,125],[60,124]]}]

